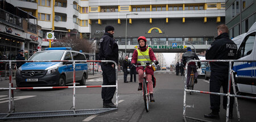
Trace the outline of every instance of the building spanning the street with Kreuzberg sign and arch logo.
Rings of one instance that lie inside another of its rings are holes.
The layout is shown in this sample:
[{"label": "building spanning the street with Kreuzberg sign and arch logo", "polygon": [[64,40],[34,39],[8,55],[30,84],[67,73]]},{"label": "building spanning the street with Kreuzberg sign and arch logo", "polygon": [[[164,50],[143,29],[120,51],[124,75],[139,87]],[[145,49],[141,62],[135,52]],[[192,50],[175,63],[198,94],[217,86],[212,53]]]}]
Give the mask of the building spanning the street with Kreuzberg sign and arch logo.
[{"label": "building spanning the street with Kreuzberg sign and arch logo", "polygon": [[[184,52],[189,43],[204,51],[224,23],[225,0],[89,0],[91,37],[100,39],[105,26],[112,25],[121,51],[132,52],[139,36],[147,38],[154,52]],[[182,48],[172,48],[174,42]]]}]

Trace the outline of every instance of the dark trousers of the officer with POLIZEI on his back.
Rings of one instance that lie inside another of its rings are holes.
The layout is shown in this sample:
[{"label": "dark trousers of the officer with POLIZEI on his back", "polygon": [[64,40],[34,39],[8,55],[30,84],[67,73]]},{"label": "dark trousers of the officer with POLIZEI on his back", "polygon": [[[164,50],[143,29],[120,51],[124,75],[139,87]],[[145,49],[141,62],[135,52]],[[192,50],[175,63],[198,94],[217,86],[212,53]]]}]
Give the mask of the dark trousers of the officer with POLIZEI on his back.
[{"label": "dark trousers of the officer with POLIZEI on his back", "polygon": [[[210,92],[220,92],[222,86],[223,92],[228,92],[228,73],[210,72]],[[232,83],[231,83],[232,85]],[[233,88],[230,85],[230,94],[233,94]],[[226,110],[227,96],[223,98],[223,108]],[[233,112],[234,98],[230,97],[229,112]],[[220,95],[210,95],[210,109],[213,112],[220,111]]]}]

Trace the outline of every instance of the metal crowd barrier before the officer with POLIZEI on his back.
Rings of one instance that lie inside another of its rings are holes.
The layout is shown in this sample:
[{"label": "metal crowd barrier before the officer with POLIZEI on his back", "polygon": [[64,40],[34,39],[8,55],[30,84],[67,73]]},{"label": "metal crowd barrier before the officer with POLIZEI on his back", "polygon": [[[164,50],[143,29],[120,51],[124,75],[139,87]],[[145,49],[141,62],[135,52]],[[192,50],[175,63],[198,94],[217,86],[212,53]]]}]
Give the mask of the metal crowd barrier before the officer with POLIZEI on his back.
[{"label": "metal crowd barrier before the officer with POLIZEI on his back", "polygon": [[[256,99],[256,97],[253,96],[242,96],[242,95],[237,95],[236,92],[236,87],[235,87],[235,82],[234,82],[234,75],[233,75],[233,70],[232,70],[232,62],[255,62],[256,60],[190,60],[187,62],[185,65],[185,87],[184,87],[184,100],[183,100],[183,118],[184,121],[187,122],[187,119],[192,119],[192,120],[197,120],[197,121],[205,121],[201,119],[196,119],[193,117],[188,117],[185,114],[186,108],[187,107],[193,107],[189,106],[186,104],[186,92],[196,92],[196,93],[202,93],[202,94],[213,94],[213,95],[221,95],[221,96],[227,96],[227,107],[226,107],[226,122],[229,121],[229,102],[230,102],[230,97],[234,97],[234,103],[236,105],[236,110],[237,110],[237,117],[238,121],[241,120],[240,118],[240,112],[238,110],[238,102],[237,98],[247,98],[247,99]],[[188,70],[188,64],[189,62],[229,62],[229,79],[228,79],[228,93],[220,93],[220,92],[209,92],[209,91],[198,91],[198,90],[187,90],[187,70]],[[233,91],[234,94],[230,94],[230,84],[232,82],[233,86]]]}]

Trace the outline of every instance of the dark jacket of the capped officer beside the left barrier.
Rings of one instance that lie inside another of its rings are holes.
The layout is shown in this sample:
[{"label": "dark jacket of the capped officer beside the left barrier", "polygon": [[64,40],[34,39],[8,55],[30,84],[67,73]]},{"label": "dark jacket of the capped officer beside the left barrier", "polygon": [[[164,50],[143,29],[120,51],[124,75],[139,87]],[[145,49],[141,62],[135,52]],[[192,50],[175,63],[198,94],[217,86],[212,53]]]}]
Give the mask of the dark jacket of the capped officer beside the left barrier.
[{"label": "dark jacket of the capped officer beside the left barrier", "polygon": [[118,45],[113,39],[113,35],[105,32],[100,40],[100,60],[112,60],[118,64]]}]

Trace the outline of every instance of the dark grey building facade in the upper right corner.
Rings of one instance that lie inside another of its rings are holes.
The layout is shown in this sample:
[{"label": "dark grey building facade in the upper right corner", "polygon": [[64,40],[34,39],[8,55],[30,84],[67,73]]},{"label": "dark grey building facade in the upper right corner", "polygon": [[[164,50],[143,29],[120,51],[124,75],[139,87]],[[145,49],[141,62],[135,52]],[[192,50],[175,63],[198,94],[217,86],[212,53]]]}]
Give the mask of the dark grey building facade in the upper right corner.
[{"label": "dark grey building facade in the upper right corner", "polygon": [[231,38],[247,32],[256,22],[256,0],[226,1],[225,18]]}]

